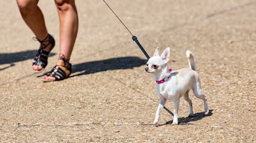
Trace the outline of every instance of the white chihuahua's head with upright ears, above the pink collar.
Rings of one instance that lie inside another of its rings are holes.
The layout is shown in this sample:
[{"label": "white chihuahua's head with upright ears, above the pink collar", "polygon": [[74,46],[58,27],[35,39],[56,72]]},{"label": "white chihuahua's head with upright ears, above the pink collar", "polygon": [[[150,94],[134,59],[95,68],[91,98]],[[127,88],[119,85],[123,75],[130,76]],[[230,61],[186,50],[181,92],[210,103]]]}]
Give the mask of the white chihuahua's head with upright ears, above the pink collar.
[{"label": "white chihuahua's head with upright ears, above the pink collar", "polygon": [[163,67],[167,66],[170,58],[170,48],[166,48],[161,55],[159,55],[158,47],[154,55],[147,61],[145,71],[148,73],[158,73]]}]

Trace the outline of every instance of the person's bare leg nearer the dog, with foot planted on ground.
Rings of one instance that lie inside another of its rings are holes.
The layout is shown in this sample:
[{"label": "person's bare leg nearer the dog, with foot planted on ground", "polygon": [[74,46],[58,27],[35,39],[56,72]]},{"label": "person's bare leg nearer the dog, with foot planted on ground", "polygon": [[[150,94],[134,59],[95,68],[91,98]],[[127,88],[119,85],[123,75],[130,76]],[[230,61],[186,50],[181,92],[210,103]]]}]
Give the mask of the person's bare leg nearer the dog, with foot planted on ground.
[{"label": "person's bare leg nearer the dog, with foot planted on ground", "polygon": [[[66,75],[70,74],[68,69],[70,56],[75,44],[78,32],[78,16],[74,0],[55,0],[59,15],[59,59],[57,65]],[[59,77],[58,77],[59,78]],[[65,78],[65,77],[64,77]],[[42,76],[42,79],[48,81],[56,80],[51,74]]]}]

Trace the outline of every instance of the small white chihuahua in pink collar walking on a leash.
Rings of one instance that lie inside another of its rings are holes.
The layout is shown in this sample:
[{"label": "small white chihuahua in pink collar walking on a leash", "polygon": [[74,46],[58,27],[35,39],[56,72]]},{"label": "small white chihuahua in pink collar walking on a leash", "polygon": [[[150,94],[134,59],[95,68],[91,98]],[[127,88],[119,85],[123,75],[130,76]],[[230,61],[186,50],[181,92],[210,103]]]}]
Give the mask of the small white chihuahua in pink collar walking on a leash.
[{"label": "small white chihuahua in pink collar walking on a leash", "polygon": [[145,68],[146,72],[152,73],[154,75],[155,81],[157,82],[157,94],[160,97],[159,106],[156,111],[156,118],[153,124],[158,123],[160,111],[164,107],[166,100],[171,100],[174,102],[173,125],[177,125],[179,103],[182,96],[189,105],[188,117],[193,117],[194,112],[192,102],[188,97],[190,89],[193,90],[197,98],[200,98],[204,101],[205,115],[208,115],[209,109],[207,105],[207,97],[202,93],[201,82],[199,75],[196,72],[196,64],[192,52],[189,50],[186,51],[189,68],[183,68],[176,71],[172,71],[167,67],[169,56],[169,47],[166,48],[161,55],[159,55],[157,47],[154,56],[148,60]]}]

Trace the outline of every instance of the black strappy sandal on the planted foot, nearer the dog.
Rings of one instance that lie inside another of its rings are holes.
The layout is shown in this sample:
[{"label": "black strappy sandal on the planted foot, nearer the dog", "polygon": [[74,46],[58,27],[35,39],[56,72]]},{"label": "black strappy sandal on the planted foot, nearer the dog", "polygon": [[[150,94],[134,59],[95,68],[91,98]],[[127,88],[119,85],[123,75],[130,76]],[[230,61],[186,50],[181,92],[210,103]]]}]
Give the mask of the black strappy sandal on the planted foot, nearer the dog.
[{"label": "black strappy sandal on the planted foot, nearer the dog", "polygon": [[[66,60],[65,56],[61,53],[59,54],[58,60],[62,60],[64,62],[64,66],[63,65],[56,65],[56,66],[53,67],[53,69],[50,72],[43,75],[43,76],[47,75],[47,76],[54,77],[55,80],[41,79],[42,81],[44,81],[44,82],[59,81],[59,80],[66,79],[70,76],[70,74],[72,72],[72,65],[69,63],[69,60]],[[64,67],[64,68],[68,69],[70,71],[70,73],[67,75],[66,72],[63,71],[60,67]]]}]

